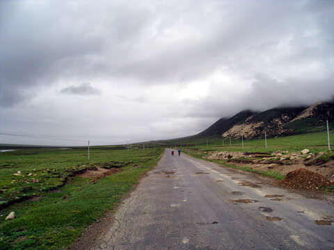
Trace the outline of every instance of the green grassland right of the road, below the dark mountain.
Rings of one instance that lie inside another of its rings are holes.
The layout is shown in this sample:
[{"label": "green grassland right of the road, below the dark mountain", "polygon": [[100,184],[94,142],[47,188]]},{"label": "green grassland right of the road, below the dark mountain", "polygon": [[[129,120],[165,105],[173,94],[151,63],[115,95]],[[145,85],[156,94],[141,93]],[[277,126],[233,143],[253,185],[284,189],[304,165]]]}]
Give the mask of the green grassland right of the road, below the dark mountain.
[{"label": "green grassland right of the road, below the dark mountain", "polygon": [[[334,131],[330,131],[330,141],[334,143]],[[184,142],[181,142],[184,145]],[[180,144],[177,144],[176,147],[180,147]],[[202,140],[197,140],[197,147],[193,146],[192,142],[186,142],[191,144],[191,147],[183,148],[184,153],[189,154],[195,158],[207,159],[208,156],[213,151],[241,151],[241,152],[261,152],[261,153],[273,153],[275,151],[290,151],[297,152],[303,149],[309,149],[312,153],[325,152],[323,156],[321,156],[321,160],[326,163],[328,160],[334,160],[334,151],[328,151],[328,140],[327,133],[325,131],[317,132],[317,133],[305,133],[301,135],[291,135],[285,136],[281,138],[269,138],[267,139],[267,149],[265,147],[264,139],[256,139],[256,140],[244,140],[244,147],[242,147],[242,141],[240,138],[231,139],[230,138],[224,140],[222,138],[202,138]],[[332,147],[333,148],[333,147]],[[252,169],[251,167],[240,167],[228,163],[227,160],[209,160],[214,163],[218,163],[221,165],[226,165],[228,167],[232,167],[234,169],[241,169],[247,172],[255,172],[257,174],[262,174],[264,176],[270,176],[276,179],[283,179],[285,177],[284,174],[271,171],[271,170],[257,170]]]}]

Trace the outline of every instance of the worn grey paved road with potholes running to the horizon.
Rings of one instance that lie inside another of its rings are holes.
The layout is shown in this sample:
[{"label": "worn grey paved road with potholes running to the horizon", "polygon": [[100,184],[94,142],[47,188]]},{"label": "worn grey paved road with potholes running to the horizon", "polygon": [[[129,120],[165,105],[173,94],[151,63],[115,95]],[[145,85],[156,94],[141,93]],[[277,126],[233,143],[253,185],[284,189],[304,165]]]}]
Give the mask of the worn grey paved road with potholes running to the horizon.
[{"label": "worn grey paved road with potholes running to the horizon", "polygon": [[167,149],[93,249],[334,249],[334,225],[314,222],[324,218],[333,201]]}]

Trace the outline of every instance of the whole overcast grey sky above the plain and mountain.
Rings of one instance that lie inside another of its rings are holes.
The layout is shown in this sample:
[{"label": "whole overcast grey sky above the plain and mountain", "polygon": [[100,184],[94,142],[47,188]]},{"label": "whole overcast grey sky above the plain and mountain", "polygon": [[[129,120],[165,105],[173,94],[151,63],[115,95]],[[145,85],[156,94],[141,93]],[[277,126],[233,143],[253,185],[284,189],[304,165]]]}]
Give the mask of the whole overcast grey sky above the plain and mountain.
[{"label": "whole overcast grey sky above the plain and mountain", "polygon": [[333,13],[330,0],[0,0],[0,143],[179,138],[332,99]]}]

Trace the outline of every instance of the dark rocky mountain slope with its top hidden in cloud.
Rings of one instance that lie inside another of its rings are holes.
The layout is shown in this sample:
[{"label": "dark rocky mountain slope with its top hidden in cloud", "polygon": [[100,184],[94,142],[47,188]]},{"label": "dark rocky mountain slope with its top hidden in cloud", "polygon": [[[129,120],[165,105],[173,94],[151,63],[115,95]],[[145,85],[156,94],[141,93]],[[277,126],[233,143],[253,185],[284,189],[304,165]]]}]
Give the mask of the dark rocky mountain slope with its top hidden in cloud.
[{"label": "dark rocky mountain slope with its top hidden in cloud", "polygon": [[230,118],[221,118],[193,138],[262,138],[323,131],[326,120],[334,124],[334,101],[319,102],[309,107],[272,108],[261,113],[244,110]]}]

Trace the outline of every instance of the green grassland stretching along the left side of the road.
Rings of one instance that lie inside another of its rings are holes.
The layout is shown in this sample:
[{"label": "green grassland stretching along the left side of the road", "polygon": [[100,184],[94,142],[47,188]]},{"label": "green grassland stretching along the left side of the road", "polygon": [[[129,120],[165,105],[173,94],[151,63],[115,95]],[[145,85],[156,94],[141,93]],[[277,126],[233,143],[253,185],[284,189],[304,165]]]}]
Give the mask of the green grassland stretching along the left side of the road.
[{"label": "green grassland stretching along the left side of the road", "polygon": [[[0,249],[66,249],[88,225],[157,164],[163,149],[19,149],[0,154]],[[100,179],[75,176],[92,166],[121,167]],[[21,172],[21,176],[13,174]],[[56,192],[55,192],[56,190]],[[38,197],[33,201],[29,197]],[[16,218],[6,221],[15,211]]]}]

